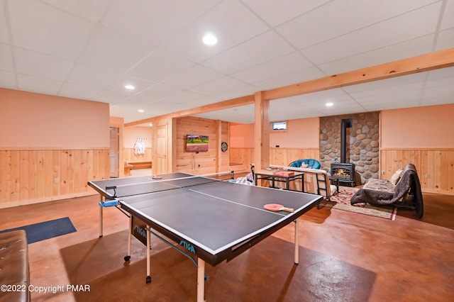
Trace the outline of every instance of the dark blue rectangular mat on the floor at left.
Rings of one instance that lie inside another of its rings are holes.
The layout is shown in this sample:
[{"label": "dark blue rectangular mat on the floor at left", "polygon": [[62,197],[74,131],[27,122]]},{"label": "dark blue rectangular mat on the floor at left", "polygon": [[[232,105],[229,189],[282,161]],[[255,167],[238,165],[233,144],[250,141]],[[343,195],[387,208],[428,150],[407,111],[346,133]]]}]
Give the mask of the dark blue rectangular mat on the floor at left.
[{"label": "dark blue rectangular mat on the floor at left", "polygon": [[2,230],[0,233],[9,232],[10,230],[25,230],[29,244],[77,232],[69,217],[33,223],[33,225],[24,225],[19,228],[10,228],[9,230]]}]

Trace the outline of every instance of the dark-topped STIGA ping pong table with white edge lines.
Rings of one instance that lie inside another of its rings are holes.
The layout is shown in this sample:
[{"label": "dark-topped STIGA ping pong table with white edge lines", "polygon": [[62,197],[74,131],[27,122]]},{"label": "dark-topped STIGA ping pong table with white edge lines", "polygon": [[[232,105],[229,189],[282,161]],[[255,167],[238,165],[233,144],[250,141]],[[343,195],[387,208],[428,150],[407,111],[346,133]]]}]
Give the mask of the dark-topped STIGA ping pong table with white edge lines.
[{"label": "dark-topped STIGA ping pong table with white edge lines", "polygon": [[[298,264],[297,218],[322,199],[314,194],[235,184],[182,172],[160,177],[104,179],[89,181],[89,186],[101,195],[101,208],[102,203],[115,201],[129,216],[125,261],[131,257],[131,234],[136,231],[139,240],[140,235],[146,237],[146,283],[151,282],[150,235],[192,259],[197,267],[197,301],[204,301],[206,263],[216,266],[224,260],[228,262],[292,222],[294,263]],[[264,206],[268,203],[282,203],[294,211],[267,211]],[[136,228],[135,219],[145,225]]]}]

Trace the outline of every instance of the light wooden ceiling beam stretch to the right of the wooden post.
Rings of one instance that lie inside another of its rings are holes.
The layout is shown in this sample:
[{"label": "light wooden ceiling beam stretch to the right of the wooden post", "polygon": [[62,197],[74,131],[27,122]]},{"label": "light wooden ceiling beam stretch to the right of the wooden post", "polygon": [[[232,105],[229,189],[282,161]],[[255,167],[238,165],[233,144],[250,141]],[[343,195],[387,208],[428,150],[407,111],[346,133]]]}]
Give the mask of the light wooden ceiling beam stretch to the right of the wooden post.
[{"label": "light wooden ceiling beam stretch to the right of the wooden post", "polygon": [[264,91],[263,97],[267,100],[283,99],[289,96],[309,94],[316,91],[400,77],[417,72],[428,72],[452,66],[454,66],[454,48],[270,89]]}]

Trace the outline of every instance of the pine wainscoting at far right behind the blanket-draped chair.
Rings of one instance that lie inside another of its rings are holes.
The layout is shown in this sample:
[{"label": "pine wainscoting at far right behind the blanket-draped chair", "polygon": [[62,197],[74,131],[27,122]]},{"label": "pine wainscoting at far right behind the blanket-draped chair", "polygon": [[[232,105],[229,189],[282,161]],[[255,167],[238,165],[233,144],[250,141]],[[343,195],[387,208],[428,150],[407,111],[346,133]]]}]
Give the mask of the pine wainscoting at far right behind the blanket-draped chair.
[{"label": "pine wainscoting at far right behind the blanket-draped chair", "polygon": [[383,179],[390,179],[409,162],[418,170],[422,191],[454,195],[454,149],[380,150]]}]

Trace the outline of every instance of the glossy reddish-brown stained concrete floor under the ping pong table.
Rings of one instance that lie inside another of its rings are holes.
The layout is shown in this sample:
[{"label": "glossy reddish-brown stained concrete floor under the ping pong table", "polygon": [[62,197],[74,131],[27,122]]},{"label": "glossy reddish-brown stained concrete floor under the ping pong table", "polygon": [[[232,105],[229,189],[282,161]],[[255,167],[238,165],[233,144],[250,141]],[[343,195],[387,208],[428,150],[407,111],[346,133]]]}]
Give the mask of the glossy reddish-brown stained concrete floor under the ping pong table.
[{"label": "glossy reddish-brown stained concrete floor under the ping pong table", "polygon": [[[157,239],[145,284],[145,247],[133,239],[125,263],[128,218],[104,209],[100,238],[98,201],[0,209],[0,230],[62,217],[77,229],[29,245],[32,301],[196,301],[196,267]],[[207,264],[206,300],[454,301],[454,196],[424,194],[424,203],[421,220],[411,211],[392,221],[314,208],[299,220],[298,265],[289,225],[231,262]]]}]

